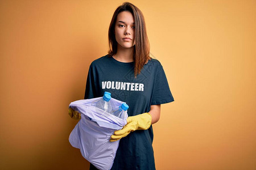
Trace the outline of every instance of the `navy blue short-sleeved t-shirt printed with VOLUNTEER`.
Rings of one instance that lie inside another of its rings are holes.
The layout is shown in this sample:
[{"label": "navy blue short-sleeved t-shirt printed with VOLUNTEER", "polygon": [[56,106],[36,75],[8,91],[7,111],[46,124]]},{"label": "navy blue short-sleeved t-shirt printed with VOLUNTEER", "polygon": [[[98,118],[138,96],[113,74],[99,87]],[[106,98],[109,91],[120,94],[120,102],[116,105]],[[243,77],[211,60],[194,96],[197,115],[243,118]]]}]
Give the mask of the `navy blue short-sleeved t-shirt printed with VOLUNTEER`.
[{"label": "navy blue short-sleeved t-shirt printed with VOLUNTEER", "polygon": [[[174,101],[160,62],[151,59],[134,77],[134,62],[124,63],[108,55],[94,60],[89,68],[85,99],[111,92],[114,99],[129,105],[128,116],[150,111],[151,105]],[[135,130],[119,142],[112,169],[155,169],[153,130]]]}]

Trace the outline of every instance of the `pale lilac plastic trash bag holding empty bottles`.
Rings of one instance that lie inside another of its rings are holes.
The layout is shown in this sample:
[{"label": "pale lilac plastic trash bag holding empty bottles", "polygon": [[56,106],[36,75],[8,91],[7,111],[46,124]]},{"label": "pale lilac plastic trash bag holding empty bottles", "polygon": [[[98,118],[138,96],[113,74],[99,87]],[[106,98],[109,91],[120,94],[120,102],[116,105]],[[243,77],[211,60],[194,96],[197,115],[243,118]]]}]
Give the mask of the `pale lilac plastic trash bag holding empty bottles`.
[{"label": "pale lilac plastic trash bag holding empty bottles", "polygon": [[[79,148],[82,156],[98,169],[111,169],[119,141],[110,142],[115,130],[122,129],[127,124],[125,119],[116,117],[108,112],[94,107],[91,103],[101,97],[77,100],[69,104],[69,107],[81,113],[81,120],[69,135],[69,142],[73,147]],[[113,110],[123,102],[111,99]]]}]

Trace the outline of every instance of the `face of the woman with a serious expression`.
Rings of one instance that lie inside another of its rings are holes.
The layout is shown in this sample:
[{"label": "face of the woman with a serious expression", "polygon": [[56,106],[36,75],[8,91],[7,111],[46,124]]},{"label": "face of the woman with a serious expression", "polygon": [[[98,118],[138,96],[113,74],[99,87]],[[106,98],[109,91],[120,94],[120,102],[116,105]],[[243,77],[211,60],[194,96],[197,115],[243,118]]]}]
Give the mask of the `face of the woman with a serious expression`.
[{"label": "face of the woman with a serious expression", "polygon": [[131,48],[135,45],[135,25],[133,14],[122,11],[117,15],[115,22],[115,40],[123,48]]}]

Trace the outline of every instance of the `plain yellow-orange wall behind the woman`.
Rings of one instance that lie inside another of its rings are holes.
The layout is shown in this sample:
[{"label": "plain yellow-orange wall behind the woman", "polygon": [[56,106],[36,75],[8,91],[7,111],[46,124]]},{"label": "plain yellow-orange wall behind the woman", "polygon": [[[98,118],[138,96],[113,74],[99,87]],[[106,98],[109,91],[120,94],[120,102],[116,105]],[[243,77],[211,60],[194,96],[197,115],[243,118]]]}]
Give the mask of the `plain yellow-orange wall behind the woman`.
[{"label": "plain yellow-orange wall behind the woman", "polygon": [[[0,2],[1,169],[89,169],[68,105],[122,2]],[[256,1],[130,2],[175,98],[154,125],[156,168],[256,169]]]}]

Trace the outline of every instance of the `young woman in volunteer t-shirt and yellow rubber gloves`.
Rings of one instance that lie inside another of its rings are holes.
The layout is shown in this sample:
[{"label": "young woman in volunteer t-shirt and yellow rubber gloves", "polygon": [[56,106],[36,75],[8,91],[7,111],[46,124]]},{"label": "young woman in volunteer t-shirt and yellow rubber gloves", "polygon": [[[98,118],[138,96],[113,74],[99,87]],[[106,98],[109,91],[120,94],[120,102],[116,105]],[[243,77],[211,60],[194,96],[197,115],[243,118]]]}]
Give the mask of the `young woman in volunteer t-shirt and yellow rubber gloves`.
[{"label": "young woman in volunteer t-shirt and yellow rubber gloves", "polygon": [[[155,169],[151,124],[158,122],[160,104],[174,101],[162,65],[149,56],[144,17],[138,7],[123,3],[109,27],[109,53],[89,68],[85,99],[105,91],[129,105],[127,125],[110,141],[120,140],[112,169]],[[79,113],[71,113],[79,118]],[[90,169],[96,169],[90,164]]]}]

